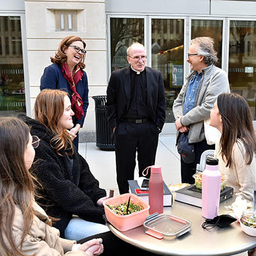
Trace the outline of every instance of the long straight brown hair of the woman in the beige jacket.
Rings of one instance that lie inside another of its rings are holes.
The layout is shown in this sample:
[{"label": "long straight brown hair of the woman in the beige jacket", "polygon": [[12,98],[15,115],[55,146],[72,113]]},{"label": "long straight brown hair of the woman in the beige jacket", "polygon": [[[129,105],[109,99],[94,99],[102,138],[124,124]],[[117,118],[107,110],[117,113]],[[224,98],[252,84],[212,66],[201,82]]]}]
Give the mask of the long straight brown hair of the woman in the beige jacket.
[{"label": "long straight brown hair of the woman in the beige jacket", "polygon": [[[33,221],[36,181],[24,161],[29,141],[28,125],[18,118],[1,117],[0,141],[0,244],[7,255],[24,256],[22,243]],[[12,232],[15,205],[19,205],[24,218],[20,250]]]}]

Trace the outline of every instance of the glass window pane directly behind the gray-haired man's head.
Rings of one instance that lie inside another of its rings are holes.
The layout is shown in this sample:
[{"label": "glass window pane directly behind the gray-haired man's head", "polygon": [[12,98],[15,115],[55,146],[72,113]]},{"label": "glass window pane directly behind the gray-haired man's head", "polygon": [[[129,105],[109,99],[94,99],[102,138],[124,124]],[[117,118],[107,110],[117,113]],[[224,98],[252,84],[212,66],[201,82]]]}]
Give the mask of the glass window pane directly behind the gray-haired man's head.
[{"label": "glass window pane directly behind the gray-haired man's head", "polygon": [[217,51],[218,63],[221,68],[222,54],[222,20],[191,20],[191,39],[198,36],[210,36],[214,39],[214,49]]}]

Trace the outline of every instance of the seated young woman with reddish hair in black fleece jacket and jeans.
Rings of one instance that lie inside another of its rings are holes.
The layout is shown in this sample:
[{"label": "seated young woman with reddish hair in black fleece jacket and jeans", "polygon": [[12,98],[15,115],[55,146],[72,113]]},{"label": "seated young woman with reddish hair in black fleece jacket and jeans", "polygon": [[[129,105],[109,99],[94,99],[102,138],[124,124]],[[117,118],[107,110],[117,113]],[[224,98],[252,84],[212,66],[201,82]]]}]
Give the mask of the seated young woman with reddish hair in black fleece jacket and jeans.
[{"label": "seated young woman with reddish hair in black fleece jacket and jeans", "polygon": [[49,216],[60,219],[52,225],[61,237],[77,241],[109,228],[102,225],[106,191],[99,188],[88,163],[72,145],[68,129],[74,126],[73,115],[67,92],[45,89],[36,97],[35,120],[18,117],[41,140],[33,164],[33,173],[42,184],[37,202]]}]

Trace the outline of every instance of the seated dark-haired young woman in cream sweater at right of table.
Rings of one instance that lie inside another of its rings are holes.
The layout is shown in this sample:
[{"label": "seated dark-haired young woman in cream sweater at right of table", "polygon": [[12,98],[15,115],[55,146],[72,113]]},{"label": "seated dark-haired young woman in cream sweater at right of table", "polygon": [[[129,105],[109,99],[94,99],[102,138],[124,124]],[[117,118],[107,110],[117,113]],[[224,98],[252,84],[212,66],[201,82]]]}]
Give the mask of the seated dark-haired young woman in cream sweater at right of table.
[{"label": "seated dark-haired young woman in cream sweater at right of table", "polygon": [[228,175],[227,186],[236,196],[253,200],[256,188],[256,136],[251,110],[243,97],[222,93],[211,110],[210,125],[221,132],[215,145],[220,172]]}]

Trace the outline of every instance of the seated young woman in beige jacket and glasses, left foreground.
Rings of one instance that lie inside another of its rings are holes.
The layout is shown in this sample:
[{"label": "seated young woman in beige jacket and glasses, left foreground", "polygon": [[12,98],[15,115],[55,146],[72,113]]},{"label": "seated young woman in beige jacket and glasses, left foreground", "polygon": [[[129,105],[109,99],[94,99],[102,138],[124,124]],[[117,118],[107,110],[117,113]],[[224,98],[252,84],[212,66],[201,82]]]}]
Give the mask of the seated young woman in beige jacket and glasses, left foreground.
[{"label": "seated young woman in beige jacket and glasses, left foreground", "polygon": [[[12,117],[0,118],[0,254],[92,256],[103,252],[102,239],[79,248],[59,237],[51,219],[35,202],[35,177],[29,172],[40,140],[28,125]],[[78,246],[78,244],[77,244]],[[73,251],[72,251],[73,248]]]}]

